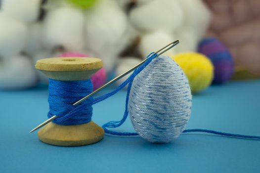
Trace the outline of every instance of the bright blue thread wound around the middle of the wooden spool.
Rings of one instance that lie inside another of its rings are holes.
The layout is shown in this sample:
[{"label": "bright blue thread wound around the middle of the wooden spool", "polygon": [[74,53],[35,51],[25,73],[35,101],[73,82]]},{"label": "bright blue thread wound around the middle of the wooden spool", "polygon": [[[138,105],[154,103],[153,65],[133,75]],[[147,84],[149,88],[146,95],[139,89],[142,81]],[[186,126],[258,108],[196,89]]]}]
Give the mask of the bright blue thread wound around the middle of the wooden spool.
[{"label": "bright blue thread wound around the middle of the wooden spool", "polygon": [[[88,123],[92,117],[92,106],[89,104],[93,97],[79,105],[73,105],[93,90],[91,81],[57,81],[49,79],[49,112],[48,118],[57,115],[53,122],[59,125],[79,125]],[[81,111],[75,113],[75,108]]]}]

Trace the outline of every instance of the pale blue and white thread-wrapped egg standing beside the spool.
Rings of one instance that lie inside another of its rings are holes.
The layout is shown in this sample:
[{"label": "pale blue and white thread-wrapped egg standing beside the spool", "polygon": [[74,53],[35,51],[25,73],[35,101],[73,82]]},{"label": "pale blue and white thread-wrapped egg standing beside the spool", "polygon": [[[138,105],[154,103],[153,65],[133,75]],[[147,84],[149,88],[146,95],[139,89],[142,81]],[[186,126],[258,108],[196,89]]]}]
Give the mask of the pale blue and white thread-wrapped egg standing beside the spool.
[{"label": "pale blue and white thread-wrapped egg standing beside the spool", "polygon": [[150,142],[170,142],[185,129],[191,114],[191,91],[181,68],[159,56],[133,80],[129,114],[134,130]]}]

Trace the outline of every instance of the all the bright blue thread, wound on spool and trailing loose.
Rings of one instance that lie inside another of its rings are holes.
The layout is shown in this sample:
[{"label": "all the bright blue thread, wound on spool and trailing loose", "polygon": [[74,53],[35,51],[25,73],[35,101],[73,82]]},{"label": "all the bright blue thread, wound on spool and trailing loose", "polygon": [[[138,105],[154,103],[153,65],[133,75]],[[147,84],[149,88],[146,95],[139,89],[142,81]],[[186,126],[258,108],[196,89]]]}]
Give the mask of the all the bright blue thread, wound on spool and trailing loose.
[{"label": "all the bright blue thread, wound on spool and trailing loose", "polygon": [[[128,111],[128,102],[129,102],[129,94],[132,86],[133,79],[136,75],[138,75],[155,57],[157,54],[152,52],[147,57],[147,61],[145,61],[140,67],[135,69],[130,77],[122,83],[119,87],[114,89],[113,91],[99,96],[97,98],[90,97],[80,105],[72,105],[74,102],[78,101],[82,97],[88,95],[92,92],[92,83],[90,80],[85,81],[57,81],[49,79],[49,113],[48,118],[58,115],[53,122],[59,125],[79,125],[88,123],[91,121],[92,117],[92,105],[96,104],[100,101],[107,99],[108,97],[116,94],[126,85],[128,85],[127,96],[126,96],[126,107],[123,118],[120,121],[110,121],[102,126],[106,133],[112,135],[119,136],[136,136],[138,135],[136,132],[118,132],[113,130],[108,130],[107,128],[117,128],[120,127],[127,119],[129,111]],[[76,87],[76,88],[75,88]],[[77,90],[77,93],[74,92]],[[243,135],[243,134],[234,134],[234,133],[226,133],[215,130],[205,130],[205,129],[190,129],[183,130],[183,133],[187,132],[205,132],[211,134],[217,134],[221,136],[227,137],[238,137],[245,139],[260,139],[260,136],[254,135]]]}]

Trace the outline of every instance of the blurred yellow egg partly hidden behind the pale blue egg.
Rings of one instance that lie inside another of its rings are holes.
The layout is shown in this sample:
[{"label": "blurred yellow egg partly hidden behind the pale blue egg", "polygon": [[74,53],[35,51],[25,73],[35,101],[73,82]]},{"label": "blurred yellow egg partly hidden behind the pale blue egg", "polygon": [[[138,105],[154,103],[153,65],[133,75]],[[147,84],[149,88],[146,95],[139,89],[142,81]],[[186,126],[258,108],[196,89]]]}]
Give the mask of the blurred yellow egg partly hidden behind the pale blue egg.
[{"label": "blurred yellow egg partly hidden behind the pale blue egg", "polygon": [[193,93],[209,87],[214,77],[214,66],[209,58],[201,53],[188,52],[172,56],[188,78]]}]

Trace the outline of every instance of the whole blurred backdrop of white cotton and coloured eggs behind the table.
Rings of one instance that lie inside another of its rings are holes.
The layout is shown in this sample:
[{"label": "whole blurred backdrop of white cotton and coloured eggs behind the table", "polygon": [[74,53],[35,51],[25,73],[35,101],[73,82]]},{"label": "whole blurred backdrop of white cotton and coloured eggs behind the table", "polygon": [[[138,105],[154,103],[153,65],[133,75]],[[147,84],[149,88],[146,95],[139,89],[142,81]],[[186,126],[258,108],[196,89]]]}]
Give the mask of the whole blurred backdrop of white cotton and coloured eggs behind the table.
[{"label": "whole blurred backdrop of white cotton and coloured eggs behind the table", "polygon": [[57,56],[101,58],[98,88],[174,40],[193,93],[260,78],[260,0],[0,0],[0,89],[47,85]]}]

